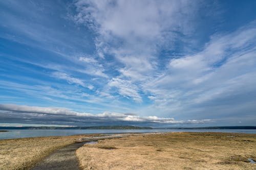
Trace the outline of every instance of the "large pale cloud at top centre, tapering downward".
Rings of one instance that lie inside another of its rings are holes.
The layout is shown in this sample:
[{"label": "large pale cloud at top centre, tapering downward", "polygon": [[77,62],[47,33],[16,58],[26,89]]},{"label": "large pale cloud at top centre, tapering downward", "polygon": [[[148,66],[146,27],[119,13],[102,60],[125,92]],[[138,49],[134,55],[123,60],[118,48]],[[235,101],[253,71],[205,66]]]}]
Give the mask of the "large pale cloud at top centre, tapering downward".
[{"label": "large pale cloud at top centre, tapering downward", "polygon": [[179,33],[193,32],[191,20],[199,6],[196,1],[86,0],[75,5],[74,20],[98,33],[97,51],[114,55],[124,64],[118,71],[133,81],[156,74],[159,46],[172,48]]}]

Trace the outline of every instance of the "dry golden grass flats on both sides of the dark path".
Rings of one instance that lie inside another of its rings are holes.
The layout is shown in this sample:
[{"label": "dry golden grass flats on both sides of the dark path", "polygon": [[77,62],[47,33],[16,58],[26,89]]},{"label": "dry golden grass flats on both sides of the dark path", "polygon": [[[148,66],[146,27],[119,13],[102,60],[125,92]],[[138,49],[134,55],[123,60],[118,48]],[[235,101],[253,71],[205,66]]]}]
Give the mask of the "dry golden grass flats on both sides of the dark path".
[{"label": "dry golden grass flats on both sides of the dark path", "polygon": [[[0,169],[30,169],[75,142],[81,169],[255,169],[256,134],[164,132],[0,140]],[[58,159],[58,158],[56,158]]]}]

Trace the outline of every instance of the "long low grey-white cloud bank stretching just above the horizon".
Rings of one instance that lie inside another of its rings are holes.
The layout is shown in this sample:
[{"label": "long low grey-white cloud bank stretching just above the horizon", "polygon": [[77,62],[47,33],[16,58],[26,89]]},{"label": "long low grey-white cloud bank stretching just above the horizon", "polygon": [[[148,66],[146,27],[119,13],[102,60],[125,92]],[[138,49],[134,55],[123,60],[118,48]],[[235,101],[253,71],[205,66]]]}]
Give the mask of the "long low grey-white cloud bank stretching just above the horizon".
[{"label": "long low grey-white cloud bank stretching just above the horizon", "polygon": [[54,124],[73,126],[152,125],[152,124],[202,124],[203,120],[175,120],[157,116],[139,116],[133,113],[103,112],[101,114],[79,113],[68,108],[20,106],[0,104],[0,123]]}]

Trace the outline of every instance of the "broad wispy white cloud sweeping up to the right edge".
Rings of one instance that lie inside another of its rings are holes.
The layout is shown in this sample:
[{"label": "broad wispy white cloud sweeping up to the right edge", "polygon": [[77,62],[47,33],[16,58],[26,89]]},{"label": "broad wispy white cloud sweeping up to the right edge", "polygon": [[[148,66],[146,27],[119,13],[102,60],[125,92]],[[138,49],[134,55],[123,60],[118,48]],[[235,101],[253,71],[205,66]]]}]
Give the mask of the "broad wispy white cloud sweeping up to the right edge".
[{"label": "broad wispy white cloud sweeping up to the right edge", "polygon": [[[212,108],[205,106],[209,101],[217,100],[215,102],[218,103],[218,100],[226,98],[230,102],[226,106],[228,108],[238,107],[234,106],[235,101],[244,105],[255,100],[243,97],[246,93],[255,94],[254,28],[255,23],[252,22],[232,33],[212,36],[201,52],[171,59],[161,77],[143,84],[144,90],[153,95],[148,98],[155,101],[155,106],[148,110],[155,107],[189,115],[203,105],[202,110],[214,114]],[[219,105],[223,104],[220,100]]]}]

